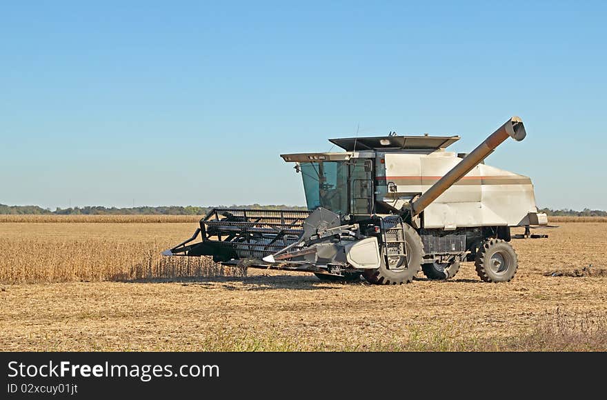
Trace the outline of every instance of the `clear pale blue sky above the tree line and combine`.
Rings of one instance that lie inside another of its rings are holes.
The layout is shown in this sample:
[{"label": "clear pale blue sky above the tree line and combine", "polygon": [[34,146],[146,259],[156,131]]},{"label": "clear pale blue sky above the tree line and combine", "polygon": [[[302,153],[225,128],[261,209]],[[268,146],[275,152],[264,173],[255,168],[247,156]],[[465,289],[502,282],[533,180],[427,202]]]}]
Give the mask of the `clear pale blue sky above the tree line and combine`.
[{"label": "clear pale blue sky above the tree line and combine", "polygon": [[459,134],[539,206],[607,210],[605,1],[8,1],[0,203],[304,204],[281,152]]}]

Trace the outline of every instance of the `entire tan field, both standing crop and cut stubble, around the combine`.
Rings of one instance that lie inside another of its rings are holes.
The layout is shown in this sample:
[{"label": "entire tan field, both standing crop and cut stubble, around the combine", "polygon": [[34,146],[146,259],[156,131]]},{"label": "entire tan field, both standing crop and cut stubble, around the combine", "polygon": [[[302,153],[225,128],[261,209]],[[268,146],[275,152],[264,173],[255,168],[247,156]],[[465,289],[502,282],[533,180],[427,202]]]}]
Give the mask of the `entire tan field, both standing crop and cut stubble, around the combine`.
[{"label": "entire tan field, both standing crop and cut stubble, around the combine", "polygon": [[513,241],[510,283],[464,263],[450,281],[370,286],[133,272],[192,223],[0,223],[0,350],[607,350],[607,277],[575,273],[607,269],[607,224],[560,225]]}]

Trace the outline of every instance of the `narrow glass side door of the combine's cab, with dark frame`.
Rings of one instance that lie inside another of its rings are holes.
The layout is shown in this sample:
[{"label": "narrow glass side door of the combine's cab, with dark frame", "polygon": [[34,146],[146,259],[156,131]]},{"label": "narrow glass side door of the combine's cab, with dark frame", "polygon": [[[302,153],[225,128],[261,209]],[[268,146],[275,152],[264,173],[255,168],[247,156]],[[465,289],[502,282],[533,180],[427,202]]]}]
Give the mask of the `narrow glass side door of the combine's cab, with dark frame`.
[{"label": "narrow glass side door of the combine's cab, with dark frame", "polygon": [[350,214],[373,212],[373,161],[350,160]]}]

